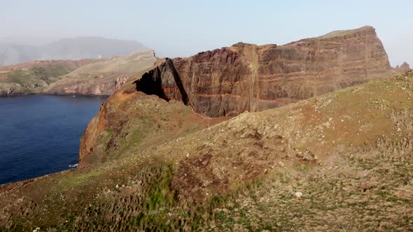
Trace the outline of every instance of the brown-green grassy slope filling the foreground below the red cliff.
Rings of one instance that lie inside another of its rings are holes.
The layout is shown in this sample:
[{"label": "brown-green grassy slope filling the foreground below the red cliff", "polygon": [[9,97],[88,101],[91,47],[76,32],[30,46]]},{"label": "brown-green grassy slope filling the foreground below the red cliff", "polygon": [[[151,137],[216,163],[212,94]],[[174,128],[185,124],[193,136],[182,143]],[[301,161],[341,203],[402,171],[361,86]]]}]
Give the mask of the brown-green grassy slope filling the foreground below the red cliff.
[{"label": "brown-green grassy slope filling the foreground below the red cliff", "polygon": [[402,76],[201,130],[216,122],[120,91],[98,164],[1,186],[0,226],[409,231],[412,94]]}]

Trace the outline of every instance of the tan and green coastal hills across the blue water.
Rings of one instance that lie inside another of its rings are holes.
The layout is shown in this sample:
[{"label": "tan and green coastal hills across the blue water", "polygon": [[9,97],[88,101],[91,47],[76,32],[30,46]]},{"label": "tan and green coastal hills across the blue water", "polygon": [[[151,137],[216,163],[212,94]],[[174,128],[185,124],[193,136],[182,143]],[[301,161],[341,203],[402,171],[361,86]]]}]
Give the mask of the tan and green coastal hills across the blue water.
[{"label": "tan and green coastal hills across the blue water", "polygon": [[153,51],[102,59],[31,61],[0,67],[0,96],[109,95],[131,75],[153,66]]}]

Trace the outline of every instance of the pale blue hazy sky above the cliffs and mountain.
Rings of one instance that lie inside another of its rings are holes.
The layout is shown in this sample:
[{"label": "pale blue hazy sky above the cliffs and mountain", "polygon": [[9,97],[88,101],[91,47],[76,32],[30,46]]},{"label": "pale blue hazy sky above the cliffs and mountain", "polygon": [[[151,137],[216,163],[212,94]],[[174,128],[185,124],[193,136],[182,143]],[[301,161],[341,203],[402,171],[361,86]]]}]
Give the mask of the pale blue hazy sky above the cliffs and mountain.
[{"label": "pale blue hazy sky above the cliffs and mountain", "polygon": [[[282,45],[370,25],[391,65],[413,66],[412,0],[0,0],[0,37],[16,43],[103,36],[136,40],[159,57],[239,41]],[[1,41],[1,40],[0,40]]]}]

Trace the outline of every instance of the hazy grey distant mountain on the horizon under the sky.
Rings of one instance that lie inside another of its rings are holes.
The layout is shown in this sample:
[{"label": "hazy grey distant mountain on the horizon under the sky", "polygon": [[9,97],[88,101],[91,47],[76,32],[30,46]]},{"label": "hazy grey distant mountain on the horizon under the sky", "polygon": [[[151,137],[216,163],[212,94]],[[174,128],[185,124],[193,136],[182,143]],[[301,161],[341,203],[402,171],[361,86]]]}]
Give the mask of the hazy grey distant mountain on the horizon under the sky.
[{"label": "hazy grey distant mountain on the horizon under the sky", "polygon": [[137,41],[102,37],[62,38],[46,45],[0,43],[0,66],[38,59],[85,59],[127,55],[149,50]]}]

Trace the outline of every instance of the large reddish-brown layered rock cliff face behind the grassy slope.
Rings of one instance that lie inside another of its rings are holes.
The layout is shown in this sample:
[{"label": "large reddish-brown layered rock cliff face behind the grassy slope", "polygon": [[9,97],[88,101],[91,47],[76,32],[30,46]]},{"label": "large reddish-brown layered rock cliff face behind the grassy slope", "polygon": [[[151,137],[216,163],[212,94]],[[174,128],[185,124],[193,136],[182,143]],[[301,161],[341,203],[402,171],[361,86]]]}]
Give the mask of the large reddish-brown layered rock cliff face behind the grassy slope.
[{"label": "large reddish-brown layered rock cliff face behind the grassy slope", "polygon": [[390,73],[374,28],[362,27],[281,46],[237,43],[165,59],[135,83],[137,90],[162,98],[187,96],[196,112],[219,117],[283,106]]}]

